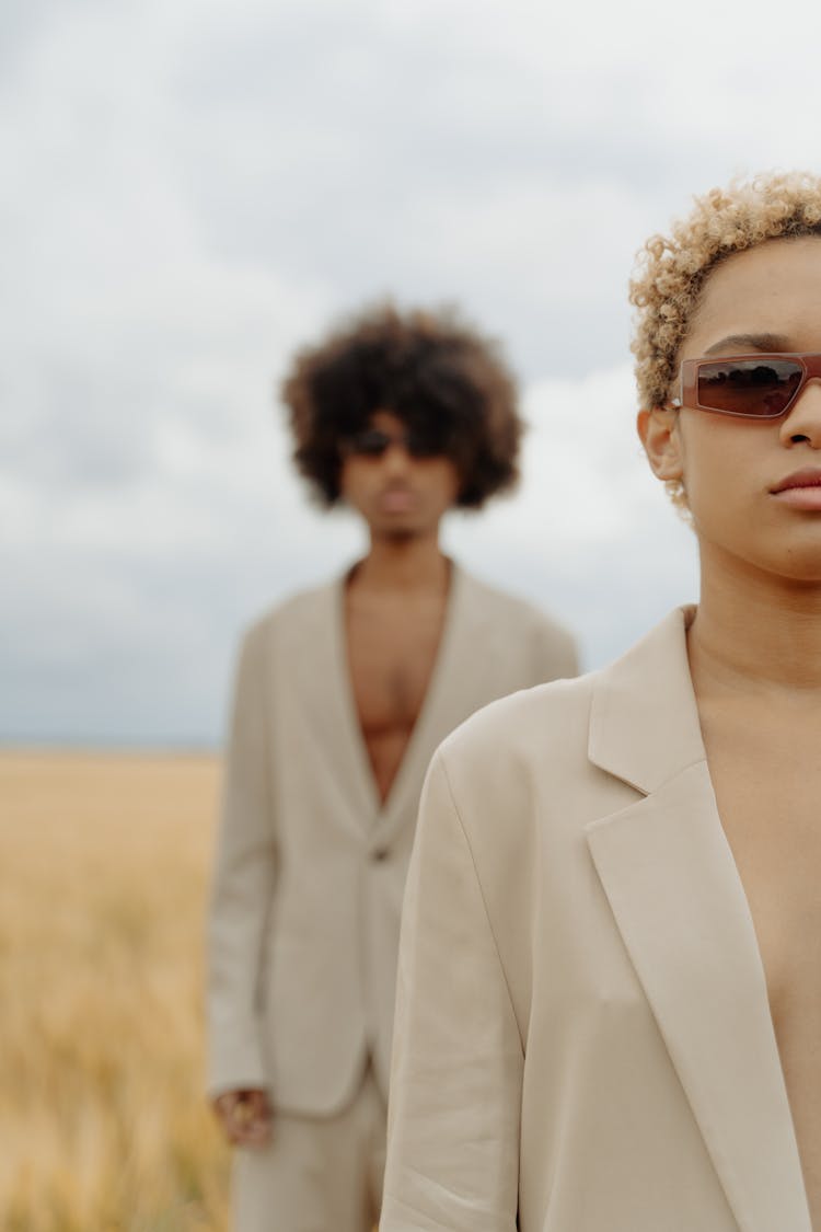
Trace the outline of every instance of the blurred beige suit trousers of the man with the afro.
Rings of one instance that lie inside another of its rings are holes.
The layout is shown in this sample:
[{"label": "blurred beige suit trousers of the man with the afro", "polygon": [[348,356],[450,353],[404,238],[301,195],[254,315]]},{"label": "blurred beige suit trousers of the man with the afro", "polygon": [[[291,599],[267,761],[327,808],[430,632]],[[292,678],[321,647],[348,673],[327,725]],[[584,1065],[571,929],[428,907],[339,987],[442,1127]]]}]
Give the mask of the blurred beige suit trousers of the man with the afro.
[{"label": "blurred beige suit trousers of the man with the afro", "polygon": [[235,1152],[234,1232],[373,1232],[385,1121],[370,1063],[336,1115],[274,1112],[270,1145]]}]

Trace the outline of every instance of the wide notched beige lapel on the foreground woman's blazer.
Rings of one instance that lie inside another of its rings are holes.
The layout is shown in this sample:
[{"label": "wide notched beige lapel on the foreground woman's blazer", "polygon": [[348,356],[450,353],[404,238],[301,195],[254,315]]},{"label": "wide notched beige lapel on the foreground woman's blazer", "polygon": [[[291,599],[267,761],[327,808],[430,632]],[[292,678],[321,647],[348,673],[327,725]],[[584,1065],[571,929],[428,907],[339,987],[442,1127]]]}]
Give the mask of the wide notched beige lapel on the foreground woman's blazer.
[{"label": "wide notched beige lapel on the foreground woman's blazer", "polygon": [[587,827],[615,923],[742,1232],[811,1232],[764,972],[718,816],[682,614],[595,690],[591,760],[646,793]]}]

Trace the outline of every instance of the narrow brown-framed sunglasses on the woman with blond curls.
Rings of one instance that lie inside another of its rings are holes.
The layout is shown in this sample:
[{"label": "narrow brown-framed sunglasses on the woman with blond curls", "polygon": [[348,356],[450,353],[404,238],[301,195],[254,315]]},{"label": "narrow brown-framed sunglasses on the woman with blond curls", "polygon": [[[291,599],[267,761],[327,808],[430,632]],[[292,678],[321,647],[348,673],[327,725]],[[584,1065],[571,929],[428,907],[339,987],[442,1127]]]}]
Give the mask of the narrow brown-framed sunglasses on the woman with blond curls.
[{"label": "narrow brown-framed sunglasses on the woman with blond curls", "polygon": [[777,352],[682,360],[681,398],[673,398],[671,405],[741,419],[778,419],[812,377],[821,377],[821,355]]}]

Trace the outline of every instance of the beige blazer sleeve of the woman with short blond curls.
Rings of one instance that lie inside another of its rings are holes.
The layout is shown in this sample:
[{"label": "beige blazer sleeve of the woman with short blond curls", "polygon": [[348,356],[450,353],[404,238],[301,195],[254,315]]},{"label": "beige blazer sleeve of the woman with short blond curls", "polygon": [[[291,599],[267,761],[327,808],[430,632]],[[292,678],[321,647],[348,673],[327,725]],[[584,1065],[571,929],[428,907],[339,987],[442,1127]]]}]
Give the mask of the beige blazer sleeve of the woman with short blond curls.
[{"label": "beige blazer sleeve of the woman with short blond curls", "polygon": [[442,752],[402,914],[380,1232],[513,1232],[523,1048]]}]

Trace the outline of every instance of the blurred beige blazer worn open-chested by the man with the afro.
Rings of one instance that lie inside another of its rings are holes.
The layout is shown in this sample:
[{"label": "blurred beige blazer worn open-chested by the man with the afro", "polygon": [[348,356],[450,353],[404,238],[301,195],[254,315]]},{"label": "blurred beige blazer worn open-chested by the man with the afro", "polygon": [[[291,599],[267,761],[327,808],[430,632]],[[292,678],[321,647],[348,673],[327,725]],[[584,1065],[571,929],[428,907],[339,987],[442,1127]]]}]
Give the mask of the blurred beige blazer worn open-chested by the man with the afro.
[{"label": "blurred beige blazer worn open-chested by the man with the afro", "polygon": [[569,634],[454,568],[422,712],[380,803],[347,671],[343,582],[247,633],[209,917],[209,1089],[341,1108],[373,1055],[386,1093],[401,899],[425,771],[486,702],[572,674]]}]

